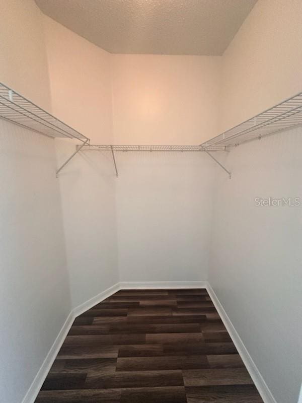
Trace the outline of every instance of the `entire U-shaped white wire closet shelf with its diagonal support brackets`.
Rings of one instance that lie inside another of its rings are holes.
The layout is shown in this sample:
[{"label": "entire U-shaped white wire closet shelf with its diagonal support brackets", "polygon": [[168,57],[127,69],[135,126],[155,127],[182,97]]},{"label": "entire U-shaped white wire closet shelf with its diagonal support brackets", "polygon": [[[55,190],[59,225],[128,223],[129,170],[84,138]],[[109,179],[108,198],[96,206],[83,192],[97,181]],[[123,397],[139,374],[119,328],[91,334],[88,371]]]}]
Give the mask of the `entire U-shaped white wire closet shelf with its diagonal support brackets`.
[{"label": "entire U-shaped white wire closet shelf with its diagonal support brackets", "polygon": [[302,92],[286,99],[212,139],[193,146],[181,145],[90,145],[90,140],[5,84],[0,83],[0,117],[50,137],[76,139],[82,142],[56,171],[56,175],[79,151],[111,151],[118,176],[115,151],[205,152],[231,178],[228,171],[211,151],[226,151],[232,146],[260,139],[302,124]]}]

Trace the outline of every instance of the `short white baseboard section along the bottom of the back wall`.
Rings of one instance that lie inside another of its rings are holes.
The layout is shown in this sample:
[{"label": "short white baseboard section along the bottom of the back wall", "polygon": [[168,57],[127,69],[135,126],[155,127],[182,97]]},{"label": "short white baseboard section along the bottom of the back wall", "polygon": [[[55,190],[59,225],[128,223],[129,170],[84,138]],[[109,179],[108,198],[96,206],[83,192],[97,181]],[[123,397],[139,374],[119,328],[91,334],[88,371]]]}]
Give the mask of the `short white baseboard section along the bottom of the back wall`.
[{"label": "short white baseboard section along the bottom of the back wall", "polygon": [[206,288],[206,281],[121,281],[120,289]]}]

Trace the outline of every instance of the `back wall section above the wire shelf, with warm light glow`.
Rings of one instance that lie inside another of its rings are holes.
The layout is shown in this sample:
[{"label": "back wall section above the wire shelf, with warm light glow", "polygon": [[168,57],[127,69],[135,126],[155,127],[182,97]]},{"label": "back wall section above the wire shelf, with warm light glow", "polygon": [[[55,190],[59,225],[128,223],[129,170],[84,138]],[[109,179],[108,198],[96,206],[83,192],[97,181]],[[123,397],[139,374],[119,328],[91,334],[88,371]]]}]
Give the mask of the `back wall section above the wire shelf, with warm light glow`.
[{"label": "back wall section above the wire shelf, with warm light glow", "polygon": [[217,134],[219,56],[112,55],[116,144],[200,144]]}]

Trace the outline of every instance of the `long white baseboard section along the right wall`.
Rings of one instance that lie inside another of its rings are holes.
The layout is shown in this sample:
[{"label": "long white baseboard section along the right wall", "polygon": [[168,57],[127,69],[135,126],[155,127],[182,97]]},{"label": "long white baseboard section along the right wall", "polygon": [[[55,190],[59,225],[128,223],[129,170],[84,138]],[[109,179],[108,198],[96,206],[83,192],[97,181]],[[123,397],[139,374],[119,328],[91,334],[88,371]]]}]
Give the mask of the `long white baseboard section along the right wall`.
[{"label": "long white baseboard section along the right wall", "polygon": [[252,357],[250,356],[247,348],[245,347],[243,341],[241,340],[240,335],[238,334],[236,328],[234,327],[231,319],[225,312],[217,295],[215,294],[214,290],[212,289],[212,287],[208,282],[206,289],[209,293],[209,296],[211,297],[213,304],[215,305],[215,308],[217,309],[217,312],[219,313],[219,316],[221,317],[224,326],[230,333],[230,336],[242,358],[242,361],[247,367],[247,370],[249,371],[249,374],[251,375],[251,378],[253,379],[255,386],[257,387],[264,403],[277,403],[270,389],[268,388],[265,380],[263,379],[260,371],[256,367],[256,364],[254,363]]}]

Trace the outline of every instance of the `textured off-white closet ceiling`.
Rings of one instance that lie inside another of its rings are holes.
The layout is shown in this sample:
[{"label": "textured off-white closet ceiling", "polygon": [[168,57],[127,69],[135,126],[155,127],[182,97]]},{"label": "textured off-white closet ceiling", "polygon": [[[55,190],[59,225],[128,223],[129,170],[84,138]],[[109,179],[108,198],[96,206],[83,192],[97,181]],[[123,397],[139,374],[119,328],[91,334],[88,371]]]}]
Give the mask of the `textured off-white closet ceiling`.
[{"label": "textured off-white closet ceiling", "polygon": [[221,55],[257,0],[36,0],[111,53]]}]

